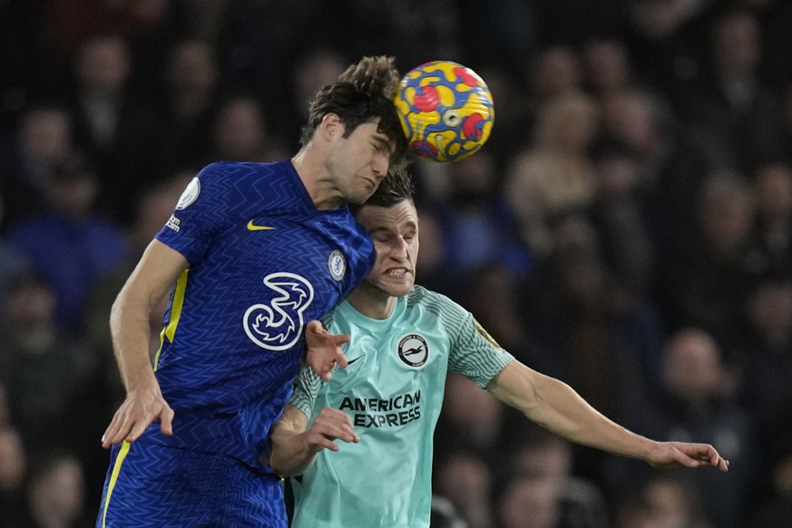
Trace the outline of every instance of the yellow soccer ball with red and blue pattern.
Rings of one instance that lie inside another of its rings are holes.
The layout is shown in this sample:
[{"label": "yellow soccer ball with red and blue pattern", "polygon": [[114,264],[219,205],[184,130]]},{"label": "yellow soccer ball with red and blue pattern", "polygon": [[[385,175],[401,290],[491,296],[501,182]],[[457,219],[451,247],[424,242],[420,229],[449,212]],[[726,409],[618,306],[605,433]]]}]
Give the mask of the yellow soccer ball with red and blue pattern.
[{"label": "yellow soccer ball with red and blue pattern", "polygon": [[396,111],[410,150],[432,161],[459,161],[493,130],[493,95],[473,70],[450,61],[421,64],[402,77]]}]

